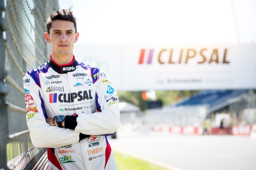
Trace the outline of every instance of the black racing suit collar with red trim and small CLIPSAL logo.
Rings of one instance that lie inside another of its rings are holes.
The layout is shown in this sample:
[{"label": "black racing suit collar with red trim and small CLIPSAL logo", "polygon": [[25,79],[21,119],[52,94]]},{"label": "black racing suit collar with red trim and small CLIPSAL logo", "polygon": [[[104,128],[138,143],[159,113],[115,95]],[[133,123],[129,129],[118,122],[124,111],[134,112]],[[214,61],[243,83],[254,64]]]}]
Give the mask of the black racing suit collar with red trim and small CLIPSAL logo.
[{"label": "black racing suit collar with red trim and small CLIPSAL logo", "polygon": [[75,71],[76,70],[76,59],[75,56],[73,55],[73,61],[70,62],[69,64],[65,65],[58,65],[56,62],[52,60],[52,55],[50,55],[49,60],[48,60],[49,65],[51,68],[56,71],[59,74],[64,74],[67,72]]}]

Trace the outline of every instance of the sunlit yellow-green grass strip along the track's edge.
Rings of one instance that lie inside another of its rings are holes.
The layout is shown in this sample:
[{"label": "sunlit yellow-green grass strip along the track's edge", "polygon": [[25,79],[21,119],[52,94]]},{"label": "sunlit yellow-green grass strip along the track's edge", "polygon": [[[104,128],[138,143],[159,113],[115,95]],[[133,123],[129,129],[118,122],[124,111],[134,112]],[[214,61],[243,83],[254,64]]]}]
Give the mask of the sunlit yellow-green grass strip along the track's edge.
[{"label": "sunlit yellow-green grass strip along the track's edge", "polygon": [[118,170],[167,170],[166,168],[151,164],[124,153],[113,150]]}]

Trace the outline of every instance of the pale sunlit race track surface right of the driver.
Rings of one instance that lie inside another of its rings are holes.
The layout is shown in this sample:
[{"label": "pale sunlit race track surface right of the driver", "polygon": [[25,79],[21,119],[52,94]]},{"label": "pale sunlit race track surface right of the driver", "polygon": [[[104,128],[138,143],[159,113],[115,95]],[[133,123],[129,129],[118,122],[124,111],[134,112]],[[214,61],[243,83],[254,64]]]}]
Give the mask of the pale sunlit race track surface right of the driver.
[{"label": "pale sunlit race track surface right of the driver", "polygon": [[111,148],[170,170],[256,170],[256,139],[118,132]]}]

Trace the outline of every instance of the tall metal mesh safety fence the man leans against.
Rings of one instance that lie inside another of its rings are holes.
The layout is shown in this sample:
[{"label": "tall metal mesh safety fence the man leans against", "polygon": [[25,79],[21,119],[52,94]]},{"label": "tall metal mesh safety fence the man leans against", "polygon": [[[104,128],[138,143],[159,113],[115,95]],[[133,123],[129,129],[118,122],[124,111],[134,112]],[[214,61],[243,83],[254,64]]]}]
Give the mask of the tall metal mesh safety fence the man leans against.
[{"label": "tall metal mesh safety fence the man leans against", "polygon": [[57,0],[0,0],[0,170],[33,169],[46,155],[26,125],[23,76],[47,61],[46,20]]}]

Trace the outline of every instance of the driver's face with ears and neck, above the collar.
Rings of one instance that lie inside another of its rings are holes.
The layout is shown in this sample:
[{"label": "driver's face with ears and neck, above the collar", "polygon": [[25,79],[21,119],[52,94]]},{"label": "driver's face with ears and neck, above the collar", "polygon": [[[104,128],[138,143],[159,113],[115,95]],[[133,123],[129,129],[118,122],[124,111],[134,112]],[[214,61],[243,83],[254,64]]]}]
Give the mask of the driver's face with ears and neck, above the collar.
[{"label": "driver's face with ears and neck, above the collar", "polygon": [[45,39],[51,44],[52,55],[72,56],[74,43],[77,42],[79,33],[75,33],[75,26],[70,21],[52,21],[50,34],[44,33]]}]

